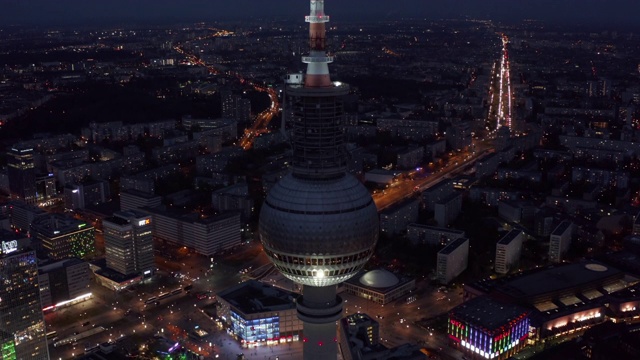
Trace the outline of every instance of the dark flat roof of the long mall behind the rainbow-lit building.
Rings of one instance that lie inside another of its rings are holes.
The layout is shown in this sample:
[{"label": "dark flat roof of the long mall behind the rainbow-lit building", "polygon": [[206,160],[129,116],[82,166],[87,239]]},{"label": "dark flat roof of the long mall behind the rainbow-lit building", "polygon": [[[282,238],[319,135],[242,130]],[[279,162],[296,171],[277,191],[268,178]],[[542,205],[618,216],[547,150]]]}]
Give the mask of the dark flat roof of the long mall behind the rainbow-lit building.
[{"label": "dark flat roof of the long mall behind the rainbow-lit building", "polygon": [[588,287],[601,287],[605,285],[604,282],[622,276],[624,273],[618,269],[607,267],[597,261],[589,261],[519,275],[498,285],[496,290],[515,299],[530,298],[534,301],[533,298],[537,296],[566,289],[586,291]]}]

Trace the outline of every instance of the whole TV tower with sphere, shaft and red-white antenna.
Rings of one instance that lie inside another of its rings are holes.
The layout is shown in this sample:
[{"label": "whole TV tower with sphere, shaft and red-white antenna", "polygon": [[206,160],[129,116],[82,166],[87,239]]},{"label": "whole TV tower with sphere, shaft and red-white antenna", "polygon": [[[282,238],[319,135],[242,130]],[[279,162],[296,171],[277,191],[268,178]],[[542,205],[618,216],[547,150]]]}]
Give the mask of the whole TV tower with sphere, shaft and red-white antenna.
[{"label": "whole TV tower with sphere, shaft and red-white antenna", "polygon": [[305,360],[336,359],[339,283],[366,264],[378,239],[378,212],[369,192],[346,172],[343,97],[326,53],[324,0],[311,0],[304,81],[290,84],[293,107],[291,172],[269,192],[260,213],[260,239],[275,267],[302,284],[298,318]]}]

